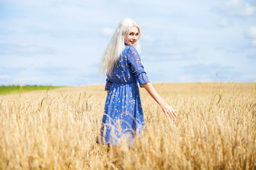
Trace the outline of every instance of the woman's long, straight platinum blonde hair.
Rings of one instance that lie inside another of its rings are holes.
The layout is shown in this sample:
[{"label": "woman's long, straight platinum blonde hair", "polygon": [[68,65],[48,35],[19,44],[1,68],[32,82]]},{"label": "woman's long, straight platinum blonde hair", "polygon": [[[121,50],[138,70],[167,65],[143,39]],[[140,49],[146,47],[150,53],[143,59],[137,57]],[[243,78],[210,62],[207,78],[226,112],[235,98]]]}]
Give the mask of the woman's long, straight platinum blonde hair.
[{"label": "woman's long, straight platinum blonde hair", "polygon": [[119,23],[117,29],[112,36],[110,43],[107,45],[105,52],[102,55],[102,60],[100,62],[100,74],[110,75],[114,68],[114,64],[122,55],[124,50],[124,39],[129,35],[129,30],[136,26],[139,30],[139,36],[137,41],[134,43],[134,47],[140,53],[139,38],[141,31],[139,25],[131,18],[124,18]]}]

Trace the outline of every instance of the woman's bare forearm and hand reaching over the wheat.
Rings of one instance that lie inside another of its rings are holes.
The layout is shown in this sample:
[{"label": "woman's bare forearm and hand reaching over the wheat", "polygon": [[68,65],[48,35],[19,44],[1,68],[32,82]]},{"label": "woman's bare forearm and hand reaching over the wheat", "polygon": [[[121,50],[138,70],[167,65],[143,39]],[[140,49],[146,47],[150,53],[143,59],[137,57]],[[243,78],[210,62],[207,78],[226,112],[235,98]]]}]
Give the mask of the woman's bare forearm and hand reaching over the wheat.
[{"label": "woman's bare forearm and hand reaching over the wheat", "polygon": [[166,114],[166,117],[168,117],[169,115],[172,118],[172,120],[176,120],[178,118],[174,108],[172,108],[171,106],[169,106],[169,104],[164,102],[163,98],[161,98],[161,96],[157,93],[156,89],[154,89],[154,86],[150,82],[142,84],[142,86],[144,86],[144,88],[150,94],[150,96],[152,96],[152,98],[154,98],[154,100],[157,103],[159,103],[159,106],[161,106],[161,108],[163,109],[164,113]]}]

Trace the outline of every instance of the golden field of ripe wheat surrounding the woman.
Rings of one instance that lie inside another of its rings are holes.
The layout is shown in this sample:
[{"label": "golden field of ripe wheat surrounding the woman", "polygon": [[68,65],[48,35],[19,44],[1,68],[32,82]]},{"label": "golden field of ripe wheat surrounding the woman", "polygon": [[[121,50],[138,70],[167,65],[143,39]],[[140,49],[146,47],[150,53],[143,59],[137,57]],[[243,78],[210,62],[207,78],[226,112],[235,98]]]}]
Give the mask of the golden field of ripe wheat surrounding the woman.
[{"label": "golden field of ripe wheat surrounding the woman", "polygon": [[140,89],[146,129],[110,159],[104,85],[0,96],[0,169],[256,169],[256,84],[154,84],[175,122]]}]

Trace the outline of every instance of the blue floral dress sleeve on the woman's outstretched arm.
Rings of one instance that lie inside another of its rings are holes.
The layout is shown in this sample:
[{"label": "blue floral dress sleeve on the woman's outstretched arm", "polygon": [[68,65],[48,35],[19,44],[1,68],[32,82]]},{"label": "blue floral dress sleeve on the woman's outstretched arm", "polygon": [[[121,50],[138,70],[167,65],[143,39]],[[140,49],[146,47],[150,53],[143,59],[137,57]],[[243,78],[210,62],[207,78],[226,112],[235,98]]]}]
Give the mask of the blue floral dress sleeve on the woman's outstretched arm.
[{"label": "blue floral dress sleeve on the woman's outstretched arm", "polygon": [[144,67],[140,60],[139,54],[134,47],[130,47],[128,50],[128,60],[132,69],[132,73],[137,78],[139,86],[143,87],[142,84],[149,82],[149,79],[144,71]]}]

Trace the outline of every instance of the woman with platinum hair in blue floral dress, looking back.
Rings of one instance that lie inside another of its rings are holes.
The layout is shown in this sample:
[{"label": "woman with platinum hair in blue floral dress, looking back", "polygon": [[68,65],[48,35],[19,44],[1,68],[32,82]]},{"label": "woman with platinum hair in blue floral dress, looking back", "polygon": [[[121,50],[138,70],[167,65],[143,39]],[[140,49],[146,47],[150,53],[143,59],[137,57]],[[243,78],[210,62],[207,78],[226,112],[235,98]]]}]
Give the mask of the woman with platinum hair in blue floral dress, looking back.
[{"label": "woman with platinum hair in blue floral dress, looking back", "polygon": [[137,82],[159,103],[166,116],[173,120],[177,118],[176,111],[164,102],[149,82],[139,57],[139,38],[138,24],[131,18],[125,18],[119,23],[102,56],[100,72],[107,75],[107,100],[101,139],[97,142],[103,145],[117,145],[121,138],[132,145],[134,135],[144,130]]}]

